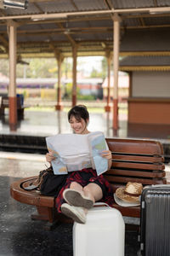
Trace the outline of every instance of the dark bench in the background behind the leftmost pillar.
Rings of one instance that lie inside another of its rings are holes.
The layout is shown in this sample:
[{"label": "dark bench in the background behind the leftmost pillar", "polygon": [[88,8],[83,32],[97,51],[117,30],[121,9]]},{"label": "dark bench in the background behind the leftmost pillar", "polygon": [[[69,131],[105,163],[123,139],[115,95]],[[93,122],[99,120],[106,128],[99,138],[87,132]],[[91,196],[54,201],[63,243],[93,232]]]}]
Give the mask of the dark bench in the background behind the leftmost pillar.
[{"label": "dark bench in the background behind the leftmost pillar", "polygon": [[[17,116],[18,119],[24,119],[24,106],[21,102],[20,96],[16,97],[17,100]],[[5,108],[9,108],[9,100],[8,96],[2,96],[1,104],[0,104],[0,118],[2,118],[5,114]]]}]

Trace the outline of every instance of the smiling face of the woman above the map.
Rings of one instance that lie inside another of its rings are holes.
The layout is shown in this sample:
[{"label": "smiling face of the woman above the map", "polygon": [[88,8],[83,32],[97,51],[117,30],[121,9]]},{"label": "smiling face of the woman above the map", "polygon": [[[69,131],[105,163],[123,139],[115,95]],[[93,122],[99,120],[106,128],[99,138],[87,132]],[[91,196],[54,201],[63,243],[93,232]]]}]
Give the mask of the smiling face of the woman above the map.
[{"label": "smiling face of the woman above the map", "polygon": [[74,116],[71,116],[70,124],[72,130],[77,134],[88,133],[87,123],[84,119],[77,120]]}]

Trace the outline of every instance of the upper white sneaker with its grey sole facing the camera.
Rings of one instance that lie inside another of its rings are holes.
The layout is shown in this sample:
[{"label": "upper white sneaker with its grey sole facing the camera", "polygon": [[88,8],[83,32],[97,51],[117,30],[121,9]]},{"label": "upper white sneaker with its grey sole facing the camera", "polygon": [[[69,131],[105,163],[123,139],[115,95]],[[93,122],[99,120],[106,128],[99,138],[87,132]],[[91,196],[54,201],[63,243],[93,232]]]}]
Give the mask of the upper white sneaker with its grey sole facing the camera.
[{"label": "upper white sneaker with its grey sole facing the camera", "polygon": [[63,192],[63,197],[67,203],[75,207],[84,207],[86,209],[90,209],[94,206],[94,201],[87,196],[82,195],[75,189],[65,189]]}]

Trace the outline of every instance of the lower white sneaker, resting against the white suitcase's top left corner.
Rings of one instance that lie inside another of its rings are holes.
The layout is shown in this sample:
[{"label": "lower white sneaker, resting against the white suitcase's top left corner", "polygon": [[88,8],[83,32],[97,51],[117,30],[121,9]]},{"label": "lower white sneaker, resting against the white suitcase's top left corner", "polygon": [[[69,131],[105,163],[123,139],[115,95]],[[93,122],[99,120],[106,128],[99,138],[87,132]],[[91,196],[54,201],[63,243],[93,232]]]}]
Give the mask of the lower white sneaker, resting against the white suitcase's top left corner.
[{"label": "lower white sneaker, resting against the white suitcase's top left corner", "polygon": [[82,207],[74,207],[64,203],[61,206],[61,212],[64,213],[67,217],[72,218],[77,223],[86,223],[86,214]]}]

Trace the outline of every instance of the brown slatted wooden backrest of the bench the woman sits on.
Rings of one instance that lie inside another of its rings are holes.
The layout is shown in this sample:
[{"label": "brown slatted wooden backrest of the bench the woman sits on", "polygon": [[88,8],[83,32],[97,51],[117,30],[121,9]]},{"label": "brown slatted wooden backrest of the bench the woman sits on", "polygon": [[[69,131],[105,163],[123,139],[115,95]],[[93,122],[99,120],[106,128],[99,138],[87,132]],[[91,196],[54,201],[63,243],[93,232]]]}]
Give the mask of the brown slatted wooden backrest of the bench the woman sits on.
[{"label": "brown slatted wooden backrest of the bench the woman sits on", "polygon": [[106,141],[112,152],[112,167],[105,177],[114,190],[129,181],[143,185],[167,183],[161,143],[119,138]]}]

